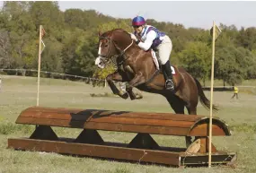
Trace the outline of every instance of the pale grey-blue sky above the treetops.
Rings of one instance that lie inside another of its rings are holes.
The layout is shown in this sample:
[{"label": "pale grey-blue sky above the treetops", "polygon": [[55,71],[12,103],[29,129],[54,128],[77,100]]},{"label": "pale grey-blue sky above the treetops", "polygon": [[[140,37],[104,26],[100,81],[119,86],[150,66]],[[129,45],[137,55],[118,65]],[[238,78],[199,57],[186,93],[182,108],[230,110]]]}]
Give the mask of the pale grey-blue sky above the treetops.
[{"label": "pale grey-blue sky above the treetops", "polygon": [[115,18],[137,15],[157,22],[181,23],[186,28],[209,29],[216,24],[256,27],[256,1],[58,1],[61,11],[93,9]]}]

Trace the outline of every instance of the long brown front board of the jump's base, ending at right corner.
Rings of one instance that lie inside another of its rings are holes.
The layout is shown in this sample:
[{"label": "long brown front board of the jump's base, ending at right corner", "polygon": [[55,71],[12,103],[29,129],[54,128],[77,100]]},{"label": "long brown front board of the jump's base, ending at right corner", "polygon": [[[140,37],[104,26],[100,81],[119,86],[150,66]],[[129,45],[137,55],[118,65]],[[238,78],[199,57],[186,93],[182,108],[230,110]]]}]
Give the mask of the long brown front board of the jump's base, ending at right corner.
[{"label": "long brown front board of the jump's base, ending at right corner", "polygon": [[138,162],[179,165],[179,154],[169,151],[139,150],[106,145],[13,138],[8,139],[8,148],[25,151],[47,151],[117,160],[133,160]]}]

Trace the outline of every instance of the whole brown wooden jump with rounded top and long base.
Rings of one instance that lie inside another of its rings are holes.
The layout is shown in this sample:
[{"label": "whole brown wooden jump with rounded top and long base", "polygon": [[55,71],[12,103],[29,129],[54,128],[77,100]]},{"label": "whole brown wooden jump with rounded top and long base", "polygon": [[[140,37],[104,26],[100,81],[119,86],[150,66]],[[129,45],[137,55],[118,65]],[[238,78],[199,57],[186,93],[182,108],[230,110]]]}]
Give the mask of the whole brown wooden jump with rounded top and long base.
[{"label": "whole brown wooden jump with rounded top and long base", "polygon": [[[172,166],[207,165],[208,117],[171,113],[143,113],[98,109],[31,107],[22,111],[17,124],[37,125],[29,138],[10,138],[8,148],[47,151],[114,160]],[[60,138],[51,126],[83,129],[76,139]],[[137,133],[130,143],[104,142],[97,130]],[[187,148],[159,146],[150,134],[195,136]],[[214,117],[213,136],[231,135],[228,126]],[[217,151],[212,144],[212,164],[230,164],[235,152]]]}]

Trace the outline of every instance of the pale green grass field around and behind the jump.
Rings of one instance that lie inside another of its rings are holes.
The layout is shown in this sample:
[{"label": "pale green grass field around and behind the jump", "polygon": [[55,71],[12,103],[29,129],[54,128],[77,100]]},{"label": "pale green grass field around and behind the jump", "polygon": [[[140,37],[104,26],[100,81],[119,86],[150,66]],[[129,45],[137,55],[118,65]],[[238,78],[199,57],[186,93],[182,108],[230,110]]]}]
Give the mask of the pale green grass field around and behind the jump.
[{"label": "pale green grass field around and behind the jump", "polygon": [[[129,100],[118,97],[91,97],[91,93],[109,92],[109,88],[98,88],[83,82],[69,82],[42,78],[40,106],[58,108],[102,108],[144,112],[173,112],[163,97],[143,92],[144,99]],[[252,82],[255,85],[255,82]],[[15,125],[14,121],[24,109],[36,105],[37,78],[3,76],[0,92],[0,173],[3,172],[103,172],[103,173],[156,173],[156,172],[256,172],[256,96],[251,92],[239,93],[240,99],[230,99],[233,92],[215,92],[214,102],[220,107],[215,115],[230,126],[232,135],[214,137],[219,150],[236,151],[236,168],[223,166],[207,168],[176,169],[156,165],[96,160],[58,155],[56,153],[13,151],[6,149],[9,137],[27,137],[34,125]],[[246,85],[250,85],[247,82]],[[209,99],[209,92],[205,91]],[[199,104],[199,115],[209,112]],[[81,130],[54,128],[59,136],[76,137]],[[128,143],[135,134],[102,132],[104,141]],[[185,147],[183,137],[154,135],[160,145]]]}]

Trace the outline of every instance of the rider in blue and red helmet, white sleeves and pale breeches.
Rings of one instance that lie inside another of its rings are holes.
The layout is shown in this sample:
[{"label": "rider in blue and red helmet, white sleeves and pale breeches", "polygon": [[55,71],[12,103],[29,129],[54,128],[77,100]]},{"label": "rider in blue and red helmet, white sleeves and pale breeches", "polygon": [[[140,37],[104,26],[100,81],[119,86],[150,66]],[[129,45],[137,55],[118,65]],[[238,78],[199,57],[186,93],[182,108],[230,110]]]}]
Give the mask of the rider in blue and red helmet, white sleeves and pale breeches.
[{"label": "rider in blue and red helmet, white sleeves and pale breeches", "polygon": [[[132,20],[132,26],[135,30],[131,33],[131,39],[134,39],[139,48],[147,51],[149,48],[159,53],[159,61],[166,75],[165,88],[173,91],[174,84],[172,82],[172,69],[169,57],[172,52],[172,40],[163,32],[157,30],[151,25],[147,25],[143,17],[137,16]],[[141,40],[137,39],[141,38]]]}]

